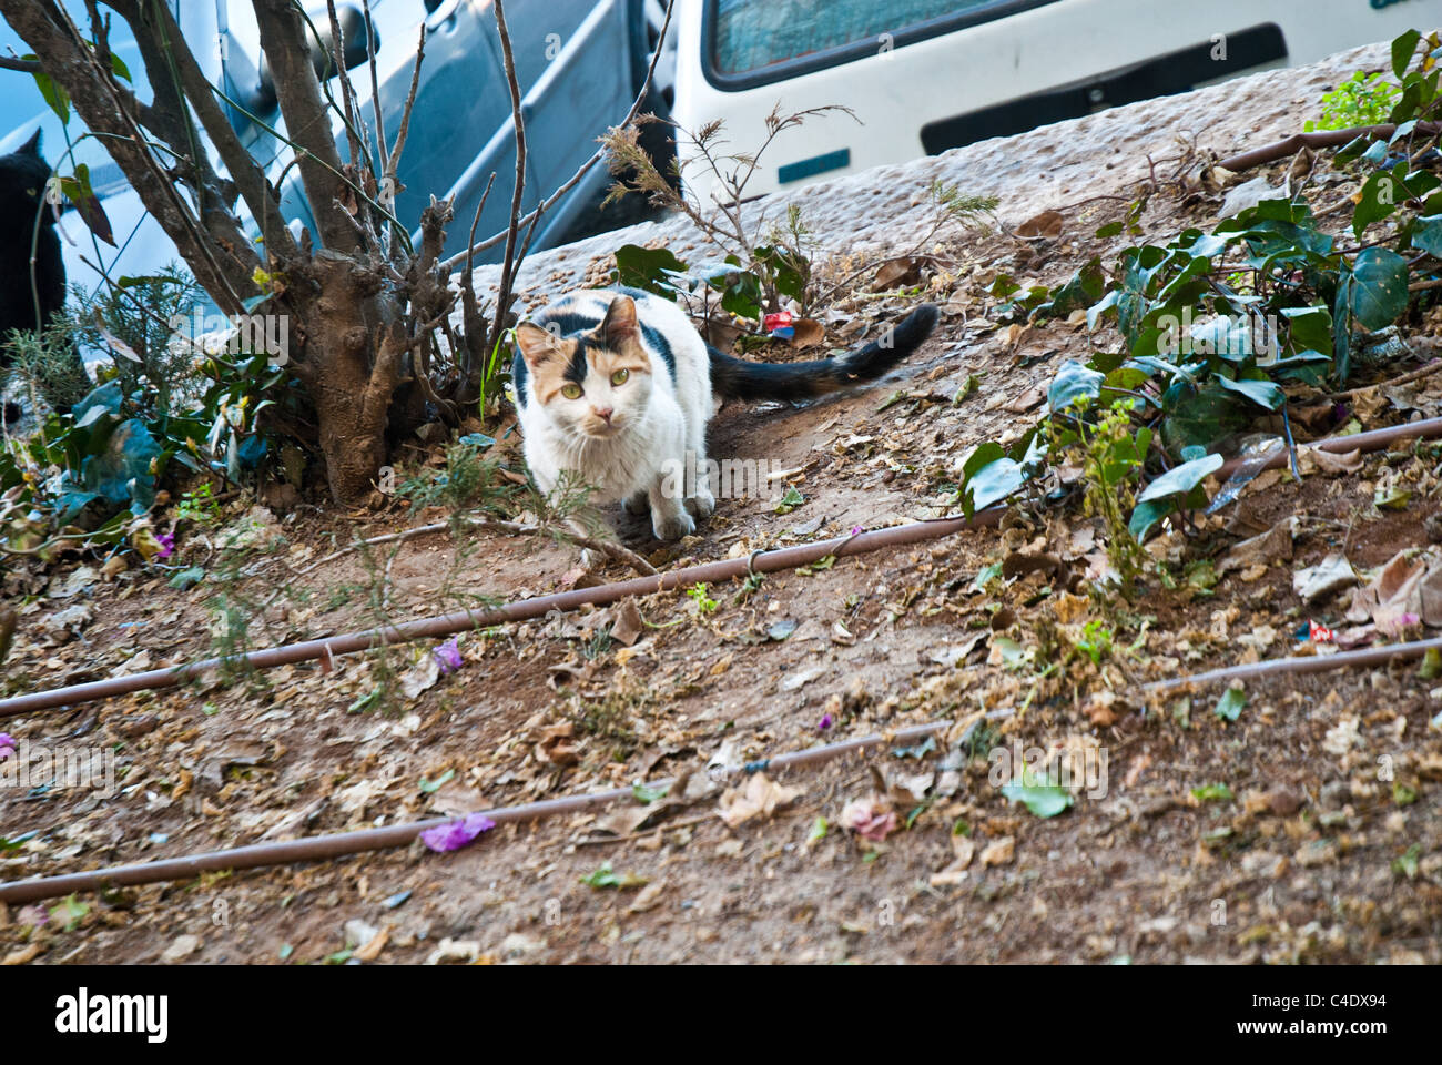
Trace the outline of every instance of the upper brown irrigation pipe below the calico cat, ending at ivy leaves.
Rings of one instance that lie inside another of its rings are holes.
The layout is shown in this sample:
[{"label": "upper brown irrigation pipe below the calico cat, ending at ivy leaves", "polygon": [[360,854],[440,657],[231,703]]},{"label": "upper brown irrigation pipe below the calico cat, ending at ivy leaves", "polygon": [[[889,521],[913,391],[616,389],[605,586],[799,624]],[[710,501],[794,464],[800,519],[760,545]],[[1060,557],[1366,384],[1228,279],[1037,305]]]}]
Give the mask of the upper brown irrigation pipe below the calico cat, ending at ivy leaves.
[{"label": "upper brown irrigation pipe below the calico cat, ending at ivy leaves", "polygon": [[404,644],[412,639],[450,636],[456,632],[464,632],[466,629],[544,618],[551,610],[575,610],[587,605],[606,606],[626,599],[627,596],[649,596],[658,592],[671,592],[688,584],[720,583],[724,580],[746,577],[751,573],[790,570],[818,561],[826,556],[845,557],[852,554],[865,554],[884,547],[903,547],[906,544],[952,535],[953,532],[960,532],[969,528],[995,525],[1001,521],[1001,515],[1002,508],[995,507],[986,511],[978,511],[970,520],[936,518],[932,521],[913,522],[910,525],[894,525],[891,528],[881,528],[872,532],[857,532],[846,537],[836,537],[833,540],[822,540],[813,544],[783,547],[777,551],[760,551],[747,558],[727,558],[722,561],[702,563],[699,566],[688,566],[686,569],[672,570],[656,577],[634,577],[632,580],[622,580],[611,584],[575,589],[574,592],[558,592],[555,595],[536,596],[487,610],[463,610],[459,613],[441,615],[440,618],[423,618],[420,621],[404,622],[401,625],[388,625],[382,628],[363,629],[360,632],[348,632],[339,636],[307,639],[301,644],[286,644],[283,647],[267,648],[264,651],[251,651],[244,655],[208,658],[200,662],[189,662],[164,670],[150,670],[147,672],[137,672],[128,677],[111,677],[108,680],[91,681],[88,684],[75,684],[68,688],[13,696],[10,698],[0,698],[0,717],[10,717],[13,714],[32,713],[36,710],[52,710],[61,706],[75,706],[76,703],[124,696],[131,691],[144,691],[147,688],[174,687],[200,677],[208,670],[215,670],[222,665],[241,665],[255,670],[267,670],[275,665],[290,665],[319,658],[329,659],[330,655],[366,651],[372,647],[381,647],[385,644]]}]

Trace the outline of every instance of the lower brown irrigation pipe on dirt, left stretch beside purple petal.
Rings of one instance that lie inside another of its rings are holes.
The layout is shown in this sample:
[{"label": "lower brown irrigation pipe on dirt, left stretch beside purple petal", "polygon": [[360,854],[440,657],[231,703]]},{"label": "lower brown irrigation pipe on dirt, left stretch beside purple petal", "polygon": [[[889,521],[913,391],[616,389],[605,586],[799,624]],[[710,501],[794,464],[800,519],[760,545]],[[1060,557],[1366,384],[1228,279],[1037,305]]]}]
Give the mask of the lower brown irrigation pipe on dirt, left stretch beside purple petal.
[{"label": "lower brown irrigation pipe on dirt, left stretch beside purple petal", "polygon": [[[829,762],[841,755],[864,750],[890,743],[906,743],[926,739],[937,732],[950,729],[955,722],[933,722],[907,729],[897,729],[887,735],[872,733],[858,739],[831,743],[823,748],[809,748],[790,755],[780,755],[760,762],[750,762],[731,773],[756,773],[761,771],[795,769],[799,766]],[[658,781],[652,788],[665,788],[675,781]],[[633,799],[632,788],[611,788],[588,795],[568,795],[565,798],[542,799],[519,807],[500,807],[483,811],[483,817],[500,824],[521,824],[525,821],[539,821],[557,814],[572,814],[591,807],[604,807],[620,799]],[[162,880],[189,880],[200,873],[258,869],[261,866],[281,866],[293,862],[316,862],[322,859],[348,857],[368,850],[386,850],[389,847],[410,846],[421,833],[430,828],[440,828],[454,824],[454,817],[440,817],[427,821],[411,821],[408,824],[386,825],[384,828],[362,828],[350,833],[333,833],[330,836],[313,836],[300,840],[281,840],[277,843],[257,843],[248,847],[234,847],[231,850],[212,850],[202,854],[187,854],[159,862],[143,862],[130,866],[111,866],[108,869],[91,869],[84,873],[62,873],[61,876],[37,876],[29,880],[14,880],[0,883],[0,902],[23,905],[40,899],[55,899],[72,892],[101,890],[107,888],[124,888],[144,883],[159,883]]]}]

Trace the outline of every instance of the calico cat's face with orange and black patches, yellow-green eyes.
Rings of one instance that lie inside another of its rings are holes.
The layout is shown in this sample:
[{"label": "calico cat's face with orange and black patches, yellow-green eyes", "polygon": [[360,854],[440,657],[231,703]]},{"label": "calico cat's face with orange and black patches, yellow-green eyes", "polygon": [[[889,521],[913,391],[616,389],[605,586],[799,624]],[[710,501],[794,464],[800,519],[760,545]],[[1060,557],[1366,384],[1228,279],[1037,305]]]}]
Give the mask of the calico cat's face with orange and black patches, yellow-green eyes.
[{"label": "calico cat's face with orange and black patches, yellow-green eyes", "polygon": [[516,346],[547,416],[572,436],[606,440],[646,413],[650,358],[640,345],[636,303],[617,296],[590,333],[557,336],[516,326]]}]

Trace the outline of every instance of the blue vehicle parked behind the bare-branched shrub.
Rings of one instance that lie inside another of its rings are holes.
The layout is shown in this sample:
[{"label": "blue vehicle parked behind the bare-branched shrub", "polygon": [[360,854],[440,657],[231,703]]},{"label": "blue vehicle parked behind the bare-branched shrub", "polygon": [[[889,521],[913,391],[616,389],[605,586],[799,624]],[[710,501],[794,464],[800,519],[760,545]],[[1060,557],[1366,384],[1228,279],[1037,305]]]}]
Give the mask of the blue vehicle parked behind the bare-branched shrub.
[{"label": "blue vehicle parked behind the bare-branched shrub", "polygon": [[[225,94],[231,124],[242,143],[265,166],[273,182],[283,180],[283,214],[288,221],[311,227],[297,169],[291,166],[286,172],[293,153],[275,136],[284,131],[284,121],[260,52],[260,32],[251,4],[248,0],[164,3],[170,4],[206,76]],[[65,0],[65,7],[78,25],[87,25],[82,0]],[[506,16],[529,146],[522,201],[526,211],[570,179],[596,152],[596,137],[626,117],[645,82],[663,12],[663,4],[656,0],[510,3]],[[358,105],[366,124],[373,126],[366,19],[356,3],[337,4],[337,13]],[[510,94],[495,12],[489,0],[371,0],[371,17],[381,113],[391,141],[401,124],[415,45],[421,26],[425,27],[425,59],[398,172],[397,215],[415,227],[433,195],[437,199],[454,196],[456,222],[448,234],[447,253],[463,251],[470,221],[492,173],[496,175],[495,188],[476,228],[477,238],[506,227],[515,179]],[[329,35],[323,3],[316,4],[311,22]],[[137,92],[146,98],[144,65],[134,42],[123,39],[120,29],[117,23],[112,49],[128,66]],[[25,75],[4,76],[19,79]],[[656,92],[647,101],[647,110],[665,110],[666,85],[665,74],[653,82]],[[339,98],[335,78],[329,87]],[[36,101],[37,95],[32,102]],[[76,163],[89,166],[92,188],[120,245],[118,250],[99,245],[76,212],[68,212],[62,219],[62,237],[66,273],[72,281],[98,289],[102,280],[91,266],[94,263],[99,263],[111,277],[118,277],[150,273],[179,258],[174,245],[146,214],[140,198],[101,144],[81,139],[84,130],[76,117],[65,124],[46,108],[19,123],[0,140],[0,154],[19,147],[36,126],[43,130],[45,156],[59,173],[71,173]],[[375,131],[371,133],[373,137]],[[339,118],[336,143],[342,157],[348,157]],[[74,147],[68,150],[66,146]],[[221,170],[213,152],[212,162]],[[597,205],[607,183],[606,169],[594,167],[542,218],[532,247],[552,247],[578,234],[606,228]],[[500,254],[497,247],[477,255],[477,261],[495,261]]]}]

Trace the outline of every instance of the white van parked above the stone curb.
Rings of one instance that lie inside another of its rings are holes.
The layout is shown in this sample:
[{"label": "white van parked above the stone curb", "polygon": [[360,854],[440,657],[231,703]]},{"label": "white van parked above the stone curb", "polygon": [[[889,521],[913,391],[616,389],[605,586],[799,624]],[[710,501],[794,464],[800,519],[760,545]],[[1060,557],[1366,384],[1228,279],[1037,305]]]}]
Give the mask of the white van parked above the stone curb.
[{"label": "white van parked above the stone curb", "polygon": [[[780,134],[747,195],[1007,137],[1442,23],[1442,0],[679,0],[672,117]],[[685,144],[681,144],[685,157]],[[714,179],[686,179],[701,196]],[[709,179],[709,180],[708,180]]]}]

